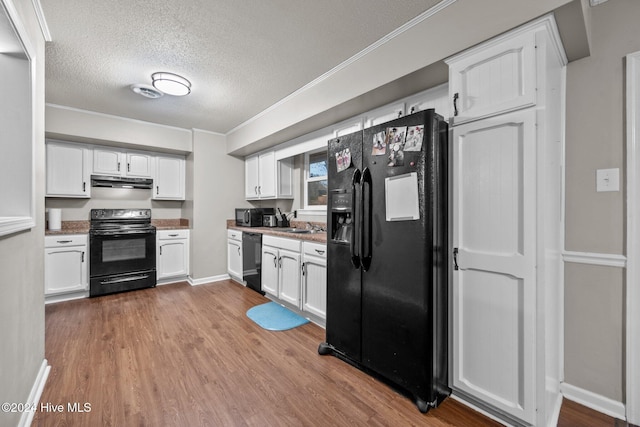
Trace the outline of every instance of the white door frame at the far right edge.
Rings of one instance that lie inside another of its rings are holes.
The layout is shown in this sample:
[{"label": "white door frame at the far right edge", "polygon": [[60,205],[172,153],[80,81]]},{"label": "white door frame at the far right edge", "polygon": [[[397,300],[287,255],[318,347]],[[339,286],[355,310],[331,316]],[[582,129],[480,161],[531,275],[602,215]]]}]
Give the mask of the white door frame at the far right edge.
[{"label": "white door frame at the far right edge", "polygon": [[640,51],[627,55],[626,417],[640,424]]}]

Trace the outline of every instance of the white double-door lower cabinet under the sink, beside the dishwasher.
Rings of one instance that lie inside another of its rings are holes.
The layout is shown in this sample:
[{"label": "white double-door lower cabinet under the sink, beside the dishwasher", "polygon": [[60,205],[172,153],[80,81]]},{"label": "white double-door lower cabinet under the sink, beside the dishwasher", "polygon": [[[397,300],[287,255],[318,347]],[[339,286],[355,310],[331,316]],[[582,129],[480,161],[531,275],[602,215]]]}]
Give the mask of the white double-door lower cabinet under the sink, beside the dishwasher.
[{"label": "white double-door lower cabinet under the sink, beside the dishwasher", "polygon": [[263,236],[262,290],[300,308],[299,240]]}]

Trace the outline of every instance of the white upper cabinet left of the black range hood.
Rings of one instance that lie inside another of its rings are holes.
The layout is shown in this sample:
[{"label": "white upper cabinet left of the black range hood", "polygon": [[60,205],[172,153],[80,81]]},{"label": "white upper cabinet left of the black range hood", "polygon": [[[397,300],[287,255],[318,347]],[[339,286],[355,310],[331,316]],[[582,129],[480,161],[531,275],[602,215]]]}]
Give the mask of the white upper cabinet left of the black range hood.
[{"label": "white upper cabinet left of the black range hood", "polygon": [[91,150],[47,141],[47,197],[91,196]]}]

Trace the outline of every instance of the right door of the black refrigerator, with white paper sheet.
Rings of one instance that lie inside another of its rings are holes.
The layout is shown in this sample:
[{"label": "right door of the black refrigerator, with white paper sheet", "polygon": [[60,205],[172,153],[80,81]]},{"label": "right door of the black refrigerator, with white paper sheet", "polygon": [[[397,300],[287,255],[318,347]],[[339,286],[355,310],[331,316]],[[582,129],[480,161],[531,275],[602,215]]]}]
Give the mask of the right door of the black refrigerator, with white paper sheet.
[{"label": "right door of the black refrigerator, with white paper sheet", "polygon": [[[399,143],[388,140],[384,155],[375,155],[379,153],[373,145],[376,135],[395,128],[397,136],[405,127],[420,125],[424,125],[420,150],[406,149],[404,138],[399,137]],[[442,244],[430,225],[441,208],[435,201],[438,186],[444,185],[444,177],[437,176],[441,159],[435,154],[440,148],[434,141],[438,135],[439,122],[429,111],[365,129],[363,142],[363,168],[371,171],[371,237],[364,239],[363,246],[370,242],[371,267],[363,272],[362,361],[429,402],[434,398],[430,388],[433,291],[439,285],[433,276],[434,249]],[[396,151],[404,152],[403,161],[396,161],[395,166],[389,157],[394,145],[404,147]],[[410,173],[416,173],[419,218],[388,221],[386,179]],[[363,212],[366,215],[365,209]]]}]

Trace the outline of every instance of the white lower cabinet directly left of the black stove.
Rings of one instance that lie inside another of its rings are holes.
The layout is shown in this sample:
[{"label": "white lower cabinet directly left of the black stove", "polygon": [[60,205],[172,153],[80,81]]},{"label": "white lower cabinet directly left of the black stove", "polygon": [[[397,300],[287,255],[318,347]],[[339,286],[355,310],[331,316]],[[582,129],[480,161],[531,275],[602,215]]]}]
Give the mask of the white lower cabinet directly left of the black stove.
[{"label": "white lower cabinet directly left of the black stove", "polygon": [[44,242],[45,295],[86,291],[89,286],[87,235],[46,236]]}]

